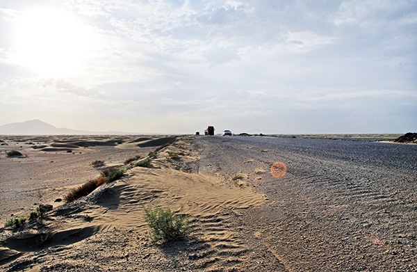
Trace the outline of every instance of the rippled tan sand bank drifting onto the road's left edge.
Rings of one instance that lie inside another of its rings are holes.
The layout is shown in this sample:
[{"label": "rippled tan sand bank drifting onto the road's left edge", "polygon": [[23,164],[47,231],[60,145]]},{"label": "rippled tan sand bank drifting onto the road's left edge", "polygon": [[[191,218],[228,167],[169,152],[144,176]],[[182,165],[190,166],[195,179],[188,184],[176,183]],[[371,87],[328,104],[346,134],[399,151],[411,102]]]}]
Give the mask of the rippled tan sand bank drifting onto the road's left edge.
[{"label": "rippled tan sand bank drifting onto the road's left edge", "polygon": [[[174,138],[145,141],[145,146],[155,146],[170,143]],[[131,142],[126,142],[126,145],[129,144]],[[149,228],[143,219],[143,207],[156,205],[189,214],[192,218],[195,227],[193,237],[177,244],[187,252],[181,257],[184,264],[197,270],[233,270],[236,265],[245,264],[255,253],[239,234],[232,219],[239,216],[240,209],[263,205],[265,196],[250,187],[225,184],[217,177],[188,173],[184,166],[196,159],[197,152],[190,149],[187,139],[182,139],[158,152],[158,158],[152,161],[152,168],[131,168],[117,182],[101,186],[85,198],[57,207],[41,224],[31,223],[21,232],[3,231],[1,264],[9,271],[17,267],[31,267],[33,271],[42,271],[45,267],[53,271],[53,267],[64,267],[77,271],[79,262],[75,264],[76,255],[90,258],[91,250],[111,254],[114,248],[109,243],[113,245],[118,239],[108,235],[116,231],[123,237],[124,248],[130,248],[129,253],[123,254],[133,255],[138,251],[140,242],[146,245],[145,251],[138,255],[140,258],[146,259],[152,254],[158,255],[158,262],[161,258],[169,259],[163,256],[163,250],[156,253],[156,248],[151,246]],[[99,244],[101,246],[97,248]],[[42,262],[39,262],[35,255],[44,250],[49,254],[42,255]],[[54,256],[59,257],[56,259]],[[275,267],[281,265],[272,255],[269,257]],[[139,271],[141,267],[147,271],[165,270],[163,266],[150,269],[155,265],[155,260],[150,262],[150,259],[128,270]],[[107,263],[95,262],[94,266],[83,263],[81,267],[85,269],[83,271],[93,271],[93,268],[104,269],[106,266]],[[124,263],[117,267],[128,266]]]}]

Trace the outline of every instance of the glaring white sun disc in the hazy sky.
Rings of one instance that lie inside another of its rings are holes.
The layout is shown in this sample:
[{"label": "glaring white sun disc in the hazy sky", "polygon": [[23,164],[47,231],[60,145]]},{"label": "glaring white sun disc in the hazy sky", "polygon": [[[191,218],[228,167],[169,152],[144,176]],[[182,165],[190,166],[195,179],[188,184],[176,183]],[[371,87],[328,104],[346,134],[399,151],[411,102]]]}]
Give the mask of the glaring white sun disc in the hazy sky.
[{"label": "glaring white sun disc in the hazy sky", "polygon": [[91,45],[88,27],[62,10],[31,10],[19,18],[17,61],[44,77],[64,77],[76,69]]}]

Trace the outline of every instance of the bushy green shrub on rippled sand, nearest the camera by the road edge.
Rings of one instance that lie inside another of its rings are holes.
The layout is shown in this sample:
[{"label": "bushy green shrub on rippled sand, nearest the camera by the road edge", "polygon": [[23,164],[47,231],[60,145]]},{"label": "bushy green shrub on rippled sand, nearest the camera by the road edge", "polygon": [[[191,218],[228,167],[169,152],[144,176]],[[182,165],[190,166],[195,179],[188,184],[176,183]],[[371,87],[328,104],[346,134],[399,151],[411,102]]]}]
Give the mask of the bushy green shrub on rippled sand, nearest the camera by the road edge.
[{"label": "bushy green shrub on rippled sand, nearest the camera by the road edge", "polygon": [[192,227],[189,216],[172,212],[169,208],[144,207],[144,218],[151,229],[153,241],[175,241],[190,234]]}]

